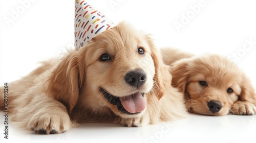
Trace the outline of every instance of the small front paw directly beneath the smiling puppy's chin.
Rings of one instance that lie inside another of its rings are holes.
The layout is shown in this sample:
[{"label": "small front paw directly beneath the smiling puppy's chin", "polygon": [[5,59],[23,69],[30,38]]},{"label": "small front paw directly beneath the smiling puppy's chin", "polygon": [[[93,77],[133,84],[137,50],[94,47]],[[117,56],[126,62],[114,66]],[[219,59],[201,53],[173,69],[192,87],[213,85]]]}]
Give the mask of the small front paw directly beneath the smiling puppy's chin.
[{"label": "small front paw directly beneath the smiling puppy's chin", "polygon": [[136,118],[121,118],[120,125],[126,127],[142,127],[150,124],[150,117],[143,115]]}]

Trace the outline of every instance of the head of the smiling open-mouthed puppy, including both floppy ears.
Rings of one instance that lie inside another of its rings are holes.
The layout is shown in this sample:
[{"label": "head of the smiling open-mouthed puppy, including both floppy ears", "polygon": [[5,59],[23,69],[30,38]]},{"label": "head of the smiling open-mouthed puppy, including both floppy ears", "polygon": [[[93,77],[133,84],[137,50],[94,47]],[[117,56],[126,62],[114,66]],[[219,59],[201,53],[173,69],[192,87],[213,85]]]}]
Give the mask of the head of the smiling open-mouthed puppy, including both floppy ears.
[{"label": "head of the smiling open-mouthed puppy, including both floppy ears", "polygon": [[170,86],[168,67],[149,36],[125,22],[95,36],[73,60],[66,70],[74,70],[67,78],[76,91],[70,94],[75,95],[59,96],[70,111],[78,103],[95,112],[110,108],[121,117],[137,117],[145,111],[149,94],[160,99]]}]

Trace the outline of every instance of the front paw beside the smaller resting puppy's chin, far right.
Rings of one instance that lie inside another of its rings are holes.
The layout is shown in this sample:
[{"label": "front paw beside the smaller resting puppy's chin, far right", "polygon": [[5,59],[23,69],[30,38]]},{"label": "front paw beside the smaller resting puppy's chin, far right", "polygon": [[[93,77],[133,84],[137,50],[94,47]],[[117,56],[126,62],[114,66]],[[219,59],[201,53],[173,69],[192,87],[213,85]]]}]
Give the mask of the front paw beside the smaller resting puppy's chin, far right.
[{"label": "front paw beside the smaller resting puppy's chin, far right", "polygon": [[248,101],[237,101],[232,105],[231,113],[236,115],[254,115],[256,107]]}]

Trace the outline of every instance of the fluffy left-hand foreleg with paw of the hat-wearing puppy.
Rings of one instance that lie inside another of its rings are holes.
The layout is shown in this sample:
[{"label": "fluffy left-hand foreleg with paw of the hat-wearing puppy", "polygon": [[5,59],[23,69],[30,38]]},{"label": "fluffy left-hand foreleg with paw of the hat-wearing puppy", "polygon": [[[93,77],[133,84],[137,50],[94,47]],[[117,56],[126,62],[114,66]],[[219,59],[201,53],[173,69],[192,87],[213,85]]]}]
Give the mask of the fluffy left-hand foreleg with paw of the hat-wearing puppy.
[{"label": "fluffy left-hand foreleg with paw of the hat-wearing puppy", "polygon": [[13,102],[17,107],[22,107],[14,110],[15,115],[12,118],[18,126],[46,134],[62,133],[71,129],[70,117],[63,104],[47,97],[43,92],[25,93],[24,97]]}]

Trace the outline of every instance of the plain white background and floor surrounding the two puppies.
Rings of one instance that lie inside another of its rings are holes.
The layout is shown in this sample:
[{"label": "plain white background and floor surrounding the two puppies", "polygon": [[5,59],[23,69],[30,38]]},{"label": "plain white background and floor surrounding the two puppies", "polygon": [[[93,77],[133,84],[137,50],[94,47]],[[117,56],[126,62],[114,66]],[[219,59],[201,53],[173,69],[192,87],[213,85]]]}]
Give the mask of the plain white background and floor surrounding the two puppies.
[{"label": "plain white background and floor surrounding the two puppies", "polygon": [[[195,54],[237,55],[238,59],[232,59],[256,87],[256,3],[253,0],[87,2],[115,23],[126,20],[137,29],[152,34],[158,47],[172,46]],[[177,29],[175,23],[180,23],[182,27]],[[56,57],[65,49],[73,48],[74,1],[0,1],[0,26],[0,84],[3,84],[25,76],[36,67],[37,62]],[[246,40],[255,42],[249,46]],[[0,115],[0,119],[4,120],[3,115]],[[10,127],[9,140],[4,139],[4,124],[0,122],[0,140],[60,143],[78,140],[255,142],[255,121],[255,116],[191,115],[185,120],[171,122],[172,128],[165,128],[168,129],[167,132],[161,131],[164,124],[143,128],[85,124],[70,132],[48,136]],[[149,139],[150,136],[157,140]]]}]

